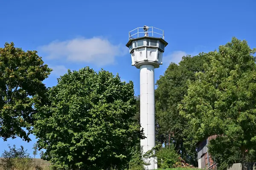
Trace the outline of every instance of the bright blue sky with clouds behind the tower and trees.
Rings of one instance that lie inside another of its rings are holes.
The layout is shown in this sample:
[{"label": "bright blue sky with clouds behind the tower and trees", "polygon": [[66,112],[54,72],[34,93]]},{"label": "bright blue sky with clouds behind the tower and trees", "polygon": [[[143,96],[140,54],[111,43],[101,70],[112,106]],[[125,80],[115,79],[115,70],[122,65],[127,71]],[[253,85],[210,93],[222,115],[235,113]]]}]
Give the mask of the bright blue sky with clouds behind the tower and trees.
[{"label": "bright blue sky with clouds behind the tower and trees", "polygon": [[[165,31],[169,45],[155,70],[157,80],[171,61],[218,49],[233,36],[256,47],[255,7],[256,0],[0,0],[0,47],[14,42],[37,50],[53,69],[47,86],[56,85],[67,69],[90,66],[133,81],[138,95],[140,70],[131,66],[125,46],[129,31],[144,25]],[[31,138],[29,143],[0,138],[0,154],[16,144],[32,156]]]}]

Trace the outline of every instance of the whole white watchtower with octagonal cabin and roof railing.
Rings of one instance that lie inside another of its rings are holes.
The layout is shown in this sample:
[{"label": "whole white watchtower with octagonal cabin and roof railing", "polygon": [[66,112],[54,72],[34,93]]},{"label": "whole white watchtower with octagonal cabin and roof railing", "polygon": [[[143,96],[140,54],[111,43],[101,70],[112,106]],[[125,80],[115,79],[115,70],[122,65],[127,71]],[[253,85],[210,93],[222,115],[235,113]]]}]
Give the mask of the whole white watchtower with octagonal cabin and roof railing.
[{"label": "whole white watchtower with octagonal cabin and roof railing", "polygon": [[[146,137],[140,145],[144,153],[155,147],[154,69],[162,64],[167,44],[163,30],[148,26],[130,31],[126,44],[130,49],[132,65],[140,69],[140,124]],[[157,169],[154,158],[147,161],[150,163],[147,170]]]}]

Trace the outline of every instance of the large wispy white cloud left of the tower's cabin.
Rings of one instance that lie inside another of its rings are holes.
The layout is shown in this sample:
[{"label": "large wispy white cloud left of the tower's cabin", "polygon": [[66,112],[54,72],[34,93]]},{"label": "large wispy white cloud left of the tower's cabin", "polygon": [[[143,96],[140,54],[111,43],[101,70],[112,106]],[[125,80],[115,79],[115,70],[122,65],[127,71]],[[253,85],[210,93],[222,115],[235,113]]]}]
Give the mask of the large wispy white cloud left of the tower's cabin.
[{"label": "large wispy white cloud left of the tower's cabin", "polygon": [[53,41],[40,46],[39,50],[47,59],[58,59],[74,63],[93,63],[96,66],[113,64],[115,58],[128,54],[128,48],[114,45],[102,37],[75,38],[66,41]]}]

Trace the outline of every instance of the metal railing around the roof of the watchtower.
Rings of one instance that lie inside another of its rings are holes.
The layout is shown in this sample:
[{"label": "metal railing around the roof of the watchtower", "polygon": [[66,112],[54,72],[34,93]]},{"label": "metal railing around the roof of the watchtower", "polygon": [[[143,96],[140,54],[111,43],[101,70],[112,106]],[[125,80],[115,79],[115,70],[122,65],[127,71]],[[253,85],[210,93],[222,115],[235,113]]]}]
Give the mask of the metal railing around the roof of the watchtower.
[{"label": "metal railing around the roof of the watchtower", "polygon": [[164,40],[164,32],[162,29],[158,29],[153,26],[148,27],[148,31],[144,31],[143,27],[138,27],[129,32],[129,40],[139,37],[145,37],[145,33],[148,34],[148,37],[157,37],[162,38]]}]

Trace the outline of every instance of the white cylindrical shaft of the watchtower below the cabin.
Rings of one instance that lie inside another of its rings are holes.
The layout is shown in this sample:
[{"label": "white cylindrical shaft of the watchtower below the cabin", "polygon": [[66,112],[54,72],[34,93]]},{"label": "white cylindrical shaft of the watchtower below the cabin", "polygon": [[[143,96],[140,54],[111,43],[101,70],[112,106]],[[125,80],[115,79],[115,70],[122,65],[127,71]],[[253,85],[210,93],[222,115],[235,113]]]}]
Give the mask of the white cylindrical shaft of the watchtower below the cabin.
[{"label": "white cylindrical shaft of the watchtower below the cabin", "polygon": [[[155,147],[154,105],[154,65],[143,64],[140,66],[140,124],[146,137],[140,141],[143,153]],[[146,161],[150,162],[146,170],[157,169],[154,158]]]}]

